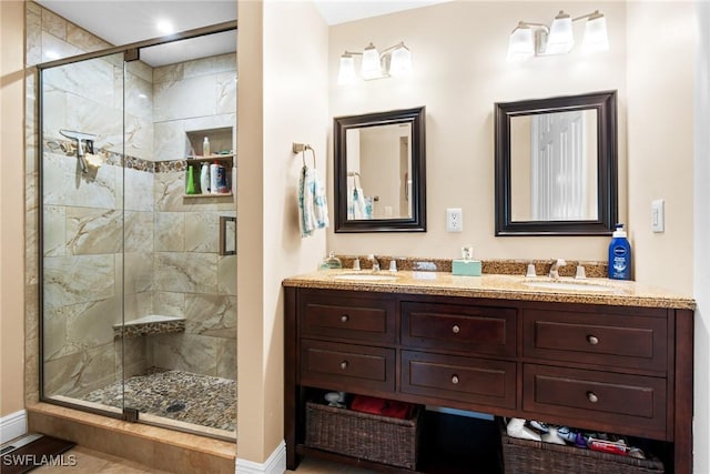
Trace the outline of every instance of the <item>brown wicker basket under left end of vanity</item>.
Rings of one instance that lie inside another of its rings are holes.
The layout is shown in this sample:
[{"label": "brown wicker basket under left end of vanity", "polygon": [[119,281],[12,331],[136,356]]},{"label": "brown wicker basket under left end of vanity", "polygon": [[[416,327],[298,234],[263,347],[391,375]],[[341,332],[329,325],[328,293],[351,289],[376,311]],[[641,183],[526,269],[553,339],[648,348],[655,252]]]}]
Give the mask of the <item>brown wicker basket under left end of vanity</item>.
[{"label": "brown wicker basket under left end of vanity", "polygon": [[307,402],[305,445],[414,470],[420,412],[399,420]]}]

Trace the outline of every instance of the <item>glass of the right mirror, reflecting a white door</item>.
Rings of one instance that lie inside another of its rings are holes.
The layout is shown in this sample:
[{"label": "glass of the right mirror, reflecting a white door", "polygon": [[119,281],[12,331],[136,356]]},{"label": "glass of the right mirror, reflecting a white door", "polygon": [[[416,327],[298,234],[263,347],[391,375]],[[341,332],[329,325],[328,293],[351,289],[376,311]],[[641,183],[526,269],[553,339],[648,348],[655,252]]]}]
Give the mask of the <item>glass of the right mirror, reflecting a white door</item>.
[{"label": "glass of the right mirror, reflecting a white door", "polygon": [[510,119],[514,222],[597,219],[596,137],[591,109]]}]

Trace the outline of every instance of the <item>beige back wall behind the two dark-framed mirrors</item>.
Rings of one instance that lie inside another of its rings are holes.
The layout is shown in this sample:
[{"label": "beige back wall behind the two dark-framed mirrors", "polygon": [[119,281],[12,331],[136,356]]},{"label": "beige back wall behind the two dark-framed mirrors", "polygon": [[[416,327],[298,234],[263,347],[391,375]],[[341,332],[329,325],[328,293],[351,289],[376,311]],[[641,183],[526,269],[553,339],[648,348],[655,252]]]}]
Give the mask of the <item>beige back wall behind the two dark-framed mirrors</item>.
[{"label": "beige back wall behind the two dark-framed mirrors", "polygon": [[[619,90],[619,159],[626,169],[626,7],[605,2],[611,49],[585,56],[506,61],[518,20],[549,22],[564,8],[572,16],[598,3],[454,1],[331,28],[331,117],[426,105],[427,232],[334,234],[342,253],[456,256],[473,245],[481,259],[607,260],[609,238],[494,236],[494,102]],[[576,23],[577,24],[577,23]],[[584,24],[581,26],[584,27]],[[581,38],[582,30],[577,31]],[[336,84],[338,57],[372,41],[381,49],[404,41],[412,50],[410,79]],[[332,177],[329,177],[332,184]],[[333,186],[329,188],[333,190]],[[623,189],[623,188],[622,188]],[[621,195],[626,220],[626,195]],[[446,208],[462,208],[464,232],[447,233]]]}]

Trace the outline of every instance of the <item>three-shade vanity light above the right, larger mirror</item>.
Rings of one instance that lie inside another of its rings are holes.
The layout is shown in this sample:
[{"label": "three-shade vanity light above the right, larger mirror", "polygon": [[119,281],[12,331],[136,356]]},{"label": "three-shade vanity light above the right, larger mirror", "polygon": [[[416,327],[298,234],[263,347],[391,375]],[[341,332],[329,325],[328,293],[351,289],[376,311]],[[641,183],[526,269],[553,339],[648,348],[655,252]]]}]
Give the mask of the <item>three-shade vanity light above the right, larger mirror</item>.
[{"label": "three-shade vanity light above the right, larger mirror", "polygon": [[575,46],[572,22],[587,20],[582,50],[598,52],[609,49],[607,20],[599,10],[571,18],[560,10],[548,27],[544,23],[519,21],[508,41],[508,61],[523,61],[532,56],[565,54]]}]

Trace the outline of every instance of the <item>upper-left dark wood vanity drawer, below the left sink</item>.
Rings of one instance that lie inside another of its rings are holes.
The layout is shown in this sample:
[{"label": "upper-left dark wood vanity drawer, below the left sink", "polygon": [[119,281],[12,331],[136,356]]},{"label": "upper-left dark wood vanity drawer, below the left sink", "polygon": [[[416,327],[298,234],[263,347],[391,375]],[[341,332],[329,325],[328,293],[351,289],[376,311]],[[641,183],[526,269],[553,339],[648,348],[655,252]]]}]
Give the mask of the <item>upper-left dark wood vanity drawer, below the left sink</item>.
[{"label": "upper-left dark wood vanity drawer, below the left sink", "polygon": [[357,341],[394,342],[395,303],[388,297],[306,293],[301,299],[301,333]]}]

